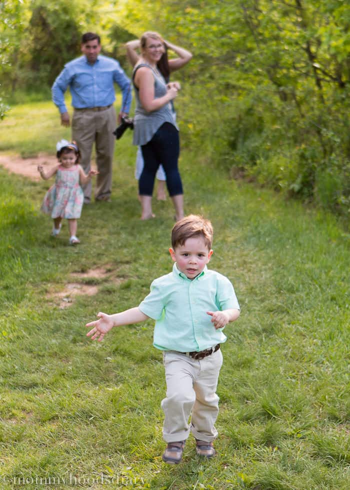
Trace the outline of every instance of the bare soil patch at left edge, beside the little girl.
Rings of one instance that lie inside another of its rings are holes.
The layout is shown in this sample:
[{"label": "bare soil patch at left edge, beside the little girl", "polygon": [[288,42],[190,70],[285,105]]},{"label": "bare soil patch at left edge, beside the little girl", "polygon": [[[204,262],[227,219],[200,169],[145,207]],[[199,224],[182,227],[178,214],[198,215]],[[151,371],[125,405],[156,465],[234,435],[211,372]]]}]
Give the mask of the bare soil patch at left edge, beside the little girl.
[{"label": "bare soil patch at left edge, beside the little girl", "polygon": [[11,173],[17,173],[32,180],[40,180],[41,177],[37,171],[37,165],[42,165],[47,171],[57,165],[57,158],[45,153],[39,153],[37,156],[29,158],[22,158],[19,155],[0,155],[0,165]]}]

